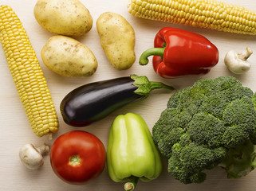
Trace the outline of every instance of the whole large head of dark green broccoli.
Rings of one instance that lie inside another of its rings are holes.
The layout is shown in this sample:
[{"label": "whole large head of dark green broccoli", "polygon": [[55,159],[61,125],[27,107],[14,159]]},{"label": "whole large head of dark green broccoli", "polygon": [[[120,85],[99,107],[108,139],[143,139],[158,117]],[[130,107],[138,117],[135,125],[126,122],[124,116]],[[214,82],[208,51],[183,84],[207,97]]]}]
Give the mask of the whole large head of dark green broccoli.
[{"label": "whole large head of dark green broccoli", "polygon": [[256,167],[256,96],[231,76],[202,79],[175,92],[152,128],[168,172],[184,184],[221,166],[227,177]]}]

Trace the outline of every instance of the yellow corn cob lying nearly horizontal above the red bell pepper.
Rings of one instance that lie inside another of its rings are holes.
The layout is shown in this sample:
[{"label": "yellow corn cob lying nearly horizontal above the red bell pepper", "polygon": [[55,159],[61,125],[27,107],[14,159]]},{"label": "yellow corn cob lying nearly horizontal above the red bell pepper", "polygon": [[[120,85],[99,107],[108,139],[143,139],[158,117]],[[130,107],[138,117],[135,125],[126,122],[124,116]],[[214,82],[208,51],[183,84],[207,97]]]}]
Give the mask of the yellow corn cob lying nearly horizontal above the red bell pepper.
[{"label": "yellow corn cob lying nearly horizontal above the red bell pepper", "polygon": [[215,0],[129,0],[128,12],[138,18],[207,29],[256,34],[256,12]]}]

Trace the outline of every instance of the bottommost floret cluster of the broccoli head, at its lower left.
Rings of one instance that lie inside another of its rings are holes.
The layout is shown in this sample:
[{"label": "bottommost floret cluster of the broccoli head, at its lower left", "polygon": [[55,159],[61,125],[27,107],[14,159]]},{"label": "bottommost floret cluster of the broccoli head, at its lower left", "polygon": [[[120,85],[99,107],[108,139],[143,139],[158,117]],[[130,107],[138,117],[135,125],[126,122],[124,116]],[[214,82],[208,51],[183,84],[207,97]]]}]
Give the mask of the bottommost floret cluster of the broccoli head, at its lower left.
[{"label": "bottommost floret cluster of the broccoli head, at its lower left", "polygon": [[206,178],[202,171],[215,167],[225,156],[226,149],[223,147],[210,149],[194,142],[186,146],[175,143],[172,146],[171,158],[168,160],[168,171],[185,184],[201,183]]}]

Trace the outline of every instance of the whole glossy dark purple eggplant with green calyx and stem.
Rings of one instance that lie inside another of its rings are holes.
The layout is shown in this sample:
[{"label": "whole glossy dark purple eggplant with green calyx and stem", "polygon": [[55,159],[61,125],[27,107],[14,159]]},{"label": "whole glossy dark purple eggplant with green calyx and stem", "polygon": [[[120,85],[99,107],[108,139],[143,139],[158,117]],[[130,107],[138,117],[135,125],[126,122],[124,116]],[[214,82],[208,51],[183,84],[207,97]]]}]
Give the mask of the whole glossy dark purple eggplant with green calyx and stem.
[{"label": "whole glossy dark purple eggplant with green calyx and stem", "polygon": [[157,88],[171,86],[152,82],[146,76],[125,76],[82,85],[61,101],[61,115],[73,127],[85,127],[128,103],[144,99]]}]

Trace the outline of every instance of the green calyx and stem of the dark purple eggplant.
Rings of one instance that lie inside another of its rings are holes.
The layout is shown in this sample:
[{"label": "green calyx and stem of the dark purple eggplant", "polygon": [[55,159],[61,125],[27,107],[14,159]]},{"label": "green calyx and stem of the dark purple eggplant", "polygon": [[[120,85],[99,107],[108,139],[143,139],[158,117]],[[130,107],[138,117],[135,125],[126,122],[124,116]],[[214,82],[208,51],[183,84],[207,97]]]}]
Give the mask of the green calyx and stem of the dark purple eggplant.
[{"label": "green calyx and stem of the dark purple eggplant", "polygon": [[133,85],[138,87],[134,92],[140,96],[148,96],[149,92],[151,92],[153,89],[160,89],[160,88],[164,88],[168,90],[174,89],[171,86],[168,86],[161,82],[149,81],[147,76],[132,75],[131,79],[134,80]]}]

